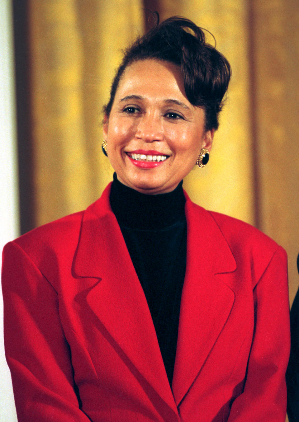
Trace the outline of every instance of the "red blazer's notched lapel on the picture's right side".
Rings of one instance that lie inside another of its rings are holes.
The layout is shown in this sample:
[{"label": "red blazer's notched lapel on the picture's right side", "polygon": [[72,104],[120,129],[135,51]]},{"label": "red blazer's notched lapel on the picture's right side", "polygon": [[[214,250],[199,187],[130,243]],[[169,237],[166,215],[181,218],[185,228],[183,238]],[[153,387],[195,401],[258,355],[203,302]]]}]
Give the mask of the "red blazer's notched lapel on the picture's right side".
[{"label": "red blazer's notched lapel on the picture's right side", "polygon": [[211,214],[188,196],[185,211],[187,267],[172,382],[177,406],[198,376],[234,303],[234,292],[217,274],[236,269],[231,250]]}]

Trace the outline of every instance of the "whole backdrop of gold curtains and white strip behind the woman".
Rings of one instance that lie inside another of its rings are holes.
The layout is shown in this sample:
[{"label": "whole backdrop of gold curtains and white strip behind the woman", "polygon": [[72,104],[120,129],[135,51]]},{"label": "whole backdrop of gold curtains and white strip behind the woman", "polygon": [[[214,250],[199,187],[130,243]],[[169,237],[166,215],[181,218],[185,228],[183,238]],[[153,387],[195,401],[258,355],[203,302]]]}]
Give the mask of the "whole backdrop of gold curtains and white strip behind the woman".
[{"label": "whole backdrop of gold curtains and white strip behind the woman", "polygon": [[[286,249],[292,303],[299,284],[298,0],[1,0],[0,246],[86,208],[111,180],[101,110],[122,49],[152,24],[145,9],[161,20],[192,19],[231,63],[209,165],[192,170],[184,188],[201,206],[249,222]],[[14,422],[2,343],[0,352],[0,419]]]}]

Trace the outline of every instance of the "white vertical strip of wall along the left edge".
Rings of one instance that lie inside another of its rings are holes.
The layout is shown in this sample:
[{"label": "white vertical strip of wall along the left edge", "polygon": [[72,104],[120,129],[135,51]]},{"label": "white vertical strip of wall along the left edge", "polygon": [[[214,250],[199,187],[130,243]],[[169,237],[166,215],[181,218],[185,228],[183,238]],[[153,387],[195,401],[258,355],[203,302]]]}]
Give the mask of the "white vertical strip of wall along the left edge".
[{"label": "white vertical strip of wall along the left edge", "polygon": [[[0,0],[0,249],[19,235],[12,1]],[[0,420],[15,422],[11,376],[4,356],[0,299]]]}]

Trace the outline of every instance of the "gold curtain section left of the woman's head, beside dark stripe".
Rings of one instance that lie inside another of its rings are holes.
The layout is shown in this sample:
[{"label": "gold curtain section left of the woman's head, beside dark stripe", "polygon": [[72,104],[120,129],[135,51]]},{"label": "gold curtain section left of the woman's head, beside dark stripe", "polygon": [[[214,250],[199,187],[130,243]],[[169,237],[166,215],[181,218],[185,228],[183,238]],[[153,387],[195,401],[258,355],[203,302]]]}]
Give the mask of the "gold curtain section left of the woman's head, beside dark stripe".
[{"label": "gold curtain section left of the woman's head, beside dark stripe", "polygon": [[102,108],[125,48],[144,30],[139,0],[29,2],[35,221],[86,208],[112,169]]}]

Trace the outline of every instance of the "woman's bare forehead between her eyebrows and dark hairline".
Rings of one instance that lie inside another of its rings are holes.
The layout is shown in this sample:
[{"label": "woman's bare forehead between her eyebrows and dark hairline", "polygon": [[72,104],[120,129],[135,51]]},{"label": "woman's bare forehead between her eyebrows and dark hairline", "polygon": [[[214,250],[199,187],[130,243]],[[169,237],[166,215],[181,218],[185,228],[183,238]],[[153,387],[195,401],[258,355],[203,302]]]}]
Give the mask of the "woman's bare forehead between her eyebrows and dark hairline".
[{"label": "woman's bare forehead between her eyebrows and dark hairline", "polygon": [[162,60],[138,60],[125,68],[117,88],[116,97],[151,90],[160,95],[185,95],[184,82],[179,66]]}]

